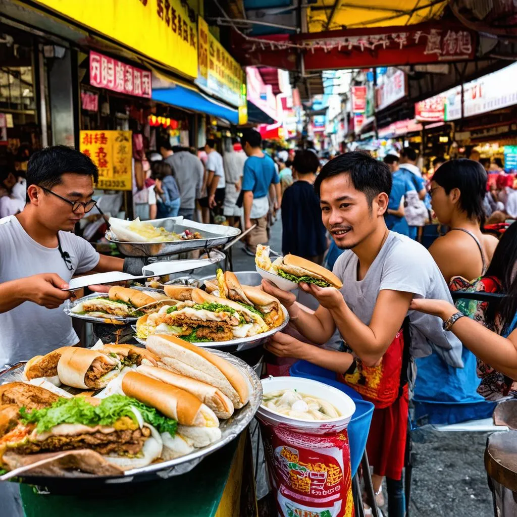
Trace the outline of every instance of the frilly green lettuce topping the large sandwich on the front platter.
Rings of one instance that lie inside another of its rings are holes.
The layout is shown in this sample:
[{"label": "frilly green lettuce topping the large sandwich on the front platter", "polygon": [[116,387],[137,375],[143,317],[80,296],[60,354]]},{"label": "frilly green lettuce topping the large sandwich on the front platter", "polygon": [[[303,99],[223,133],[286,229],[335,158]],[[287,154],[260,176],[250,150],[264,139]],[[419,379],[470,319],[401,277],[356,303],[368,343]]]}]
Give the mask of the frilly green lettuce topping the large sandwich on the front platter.
[{"label": "frilly green lettuce topping the large sandwich on the front platter", "polygon": [[122,417],[129,417],[138,423],[131,406],[136,407],[143,419],[153,425],[158,432],[168,431],[174,436],[176,420],[164,416],[154,407],[118,394],[102,399],[98,406],[89,404],[82,397],[60,398],[49,407],[34,409],[31,412],[27,412],[25,407],[21,407],[20,415],[23,423],[35,423],[38,432],[43,433],[62,423],[80,423],[94,427],[95,425],[112,425]]}]

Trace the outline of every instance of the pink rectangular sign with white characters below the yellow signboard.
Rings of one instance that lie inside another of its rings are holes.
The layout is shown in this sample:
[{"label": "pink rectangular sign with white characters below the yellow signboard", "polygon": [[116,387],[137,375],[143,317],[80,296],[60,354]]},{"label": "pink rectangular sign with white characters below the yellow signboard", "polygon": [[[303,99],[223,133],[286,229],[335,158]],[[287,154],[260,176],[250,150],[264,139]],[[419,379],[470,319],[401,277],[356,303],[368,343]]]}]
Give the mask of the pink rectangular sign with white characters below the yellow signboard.
[{"label": "pink rectangular sign with white characters below the yellow signboard", "polygon": [[90,84],[136,97],[151,96],[151,72],[90,52]]}]

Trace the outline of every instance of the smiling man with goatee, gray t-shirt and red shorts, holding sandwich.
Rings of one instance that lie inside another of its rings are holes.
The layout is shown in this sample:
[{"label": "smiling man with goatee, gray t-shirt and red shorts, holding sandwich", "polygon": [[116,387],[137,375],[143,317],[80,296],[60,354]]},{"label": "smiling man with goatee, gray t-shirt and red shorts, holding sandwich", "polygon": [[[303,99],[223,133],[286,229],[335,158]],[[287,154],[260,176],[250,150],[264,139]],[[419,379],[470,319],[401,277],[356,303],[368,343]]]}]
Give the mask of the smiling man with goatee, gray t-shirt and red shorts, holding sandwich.
[{"label": "smiling man with goatee, gray t-shirt and red shorts, holding sandwich", "polygon": [[[300,283],[320,302],[313,314],[293,294],[267,281],[263,288],[280,299],[291,324],[309,341],[324,344],[338,327],[346,345],[343,352],[324,350],[277,332],[267,348],[336,372],[341,382],[374,403],[367,444],[374,488],[378,491],[386,476],[390,517],[402,516],[410,356],[435,352],[451,366],[463,366],[458,339],[439,318],[409,311],[409,303],[413,297],[450,301],[450,294],[429,252],[386,227],[391,189],[386,164],[364,153],[347,153],[323,167],[314,188],[323,223],[345,250],[333,269],[342,287]],[[403,331],[406,326],[409,333]]]}]

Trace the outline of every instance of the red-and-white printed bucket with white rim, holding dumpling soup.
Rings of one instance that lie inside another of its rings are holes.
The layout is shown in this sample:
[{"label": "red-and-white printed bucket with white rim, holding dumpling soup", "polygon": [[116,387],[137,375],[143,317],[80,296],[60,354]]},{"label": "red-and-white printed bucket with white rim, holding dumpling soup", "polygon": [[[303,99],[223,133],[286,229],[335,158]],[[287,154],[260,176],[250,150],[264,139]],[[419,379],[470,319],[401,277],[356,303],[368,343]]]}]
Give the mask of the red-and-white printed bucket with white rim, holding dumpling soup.
[{"label": "red-and-white printed bucket with white rim, holding dumpling soup", "polygon": [[301,377],[263,379],[265,394],[296,389],[330,402],[340,417],[299,420],[274,413],[261,405],[261,425],[269,481],[275,491],[278,515],[351,517],[352,470],[347,425],[354,401],[339,389]]}]

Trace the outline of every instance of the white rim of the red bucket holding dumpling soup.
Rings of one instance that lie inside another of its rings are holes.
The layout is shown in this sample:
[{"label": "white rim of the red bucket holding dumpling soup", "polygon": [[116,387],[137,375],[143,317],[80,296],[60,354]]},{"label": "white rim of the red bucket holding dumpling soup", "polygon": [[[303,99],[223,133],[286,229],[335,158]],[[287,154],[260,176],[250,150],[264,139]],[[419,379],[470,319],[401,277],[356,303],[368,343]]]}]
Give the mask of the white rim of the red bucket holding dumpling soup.
[{"label": "white rim of the red bucket holding dumpling soup", "polygon": [[326,434],[336,433],[345,429],[355,413],[354,401],[346,393],[337,388],[328,386],[312,379],[302,377],[268,377],[262,379],[264,394],[271,391],[295,389],[300,393],[312,395],[318,399],[330,402],[340,413],[340,417],[329,420],[301,420],[290,418],[272,412],[264,405],[260,405],[256,413],[258,420],[263,420],[275,427],[288,427],[299,433]]}]

